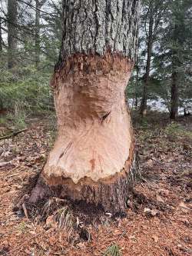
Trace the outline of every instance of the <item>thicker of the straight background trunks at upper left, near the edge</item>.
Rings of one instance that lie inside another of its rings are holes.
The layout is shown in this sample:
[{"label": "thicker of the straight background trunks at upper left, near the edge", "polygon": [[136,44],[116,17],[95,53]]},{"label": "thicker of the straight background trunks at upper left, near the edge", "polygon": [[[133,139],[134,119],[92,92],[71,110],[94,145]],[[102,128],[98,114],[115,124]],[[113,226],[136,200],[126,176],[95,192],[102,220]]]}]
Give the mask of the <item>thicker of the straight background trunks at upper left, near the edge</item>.
[{"label": "thicker of the straight background trunks at upper left, near the edge", "polygon": [[16,65],[17,49],[17,1],[8,0],[8,68]]}]

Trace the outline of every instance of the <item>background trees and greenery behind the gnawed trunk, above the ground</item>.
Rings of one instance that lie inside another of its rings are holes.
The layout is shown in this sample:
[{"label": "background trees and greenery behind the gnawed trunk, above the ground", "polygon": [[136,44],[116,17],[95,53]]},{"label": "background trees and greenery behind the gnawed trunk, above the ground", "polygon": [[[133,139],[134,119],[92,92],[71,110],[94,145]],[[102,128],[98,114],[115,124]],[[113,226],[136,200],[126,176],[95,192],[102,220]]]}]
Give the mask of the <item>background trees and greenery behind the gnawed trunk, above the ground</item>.
[{"label": "background trees and greenery behind the gnawed trunk, above the ground", "polygon": [[[171,118],[178,109],[191,111],[191,8],[189,0],[142,1],[137,62],[127,86],[131,108],[142,115],[155,105]],[[18,122],[54,109],[49,82],[58,61],[61,12],[61,1],[1,0],[0,109],[12,110]]]}]

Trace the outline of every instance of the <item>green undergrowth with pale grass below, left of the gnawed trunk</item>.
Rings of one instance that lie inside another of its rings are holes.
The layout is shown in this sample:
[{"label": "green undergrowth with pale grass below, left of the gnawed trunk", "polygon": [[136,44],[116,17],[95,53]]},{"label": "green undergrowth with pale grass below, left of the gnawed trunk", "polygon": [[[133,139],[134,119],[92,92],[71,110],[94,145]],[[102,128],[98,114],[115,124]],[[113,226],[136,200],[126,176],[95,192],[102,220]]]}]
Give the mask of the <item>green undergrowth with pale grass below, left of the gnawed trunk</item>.
[{"label": "green undergrowth with pale grass below, left of the gnawed trunk", "polygon": [[[0,77],[0,124],[14,129],[27,126],[32,115],[55,115],[50,87],[52,71],[34,66],[11,72],[2,68]],[[7,114],[7,115],[5,115]]]}]

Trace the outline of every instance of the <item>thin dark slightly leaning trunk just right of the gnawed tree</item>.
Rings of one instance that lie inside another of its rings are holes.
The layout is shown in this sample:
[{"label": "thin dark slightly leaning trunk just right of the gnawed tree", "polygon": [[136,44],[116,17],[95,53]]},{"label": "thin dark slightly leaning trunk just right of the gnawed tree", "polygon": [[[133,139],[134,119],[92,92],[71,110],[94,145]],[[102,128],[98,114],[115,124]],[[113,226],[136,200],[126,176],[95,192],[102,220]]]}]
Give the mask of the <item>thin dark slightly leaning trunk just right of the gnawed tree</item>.
[{"label": "thin dark slightly leaning trunk just right of the gnawed tree", "polygon": [[[152,4],[151,4],[152,5]],[[147,37],[147,65],[146,65],[146,72],[144,75],[144,87],[143,87],[143,95],[141,99],[141,115],[146,115],[147,112],[147,88],[150,81],[150,70],[151,70],[151,55],[152,55],[152,48],[153,48],[153,26],[154,26],[154,18],[153,18],[153,11],[152,6],[150,6],[150,18],[149,18],[149,30],[148,30],[148,37]]]}]

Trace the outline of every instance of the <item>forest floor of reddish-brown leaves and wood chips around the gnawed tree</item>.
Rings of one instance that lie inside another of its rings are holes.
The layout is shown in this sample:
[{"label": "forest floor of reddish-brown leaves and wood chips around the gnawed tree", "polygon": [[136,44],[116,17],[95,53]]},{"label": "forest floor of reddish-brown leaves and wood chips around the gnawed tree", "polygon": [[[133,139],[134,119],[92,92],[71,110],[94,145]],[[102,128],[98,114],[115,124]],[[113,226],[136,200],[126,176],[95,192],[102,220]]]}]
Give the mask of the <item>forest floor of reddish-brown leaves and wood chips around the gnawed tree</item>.
[{"label": "forest floor of reddish-brown leaves and wood chips around the gnawed tree", "polygon": [[[75,215],[76,224],[90,235],[79,234],[65,220],[60,228],[61,218],[48,211],[45,221],[13,211],[51,148],[50,118],[28,120],[27,131],[0,141],[0,255],[102,256],[111,244],[124,256],[190,255],[192,119],[171,123],[166,115],[151,113],[144,120],[134,116],[134,129],[142,178],[131,191],[124,218],[103,214],[86,221]],[[0,124],[0,135],[5,130]]]}]

